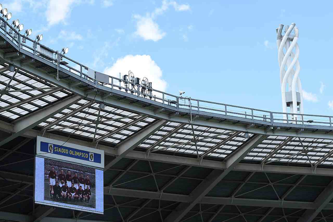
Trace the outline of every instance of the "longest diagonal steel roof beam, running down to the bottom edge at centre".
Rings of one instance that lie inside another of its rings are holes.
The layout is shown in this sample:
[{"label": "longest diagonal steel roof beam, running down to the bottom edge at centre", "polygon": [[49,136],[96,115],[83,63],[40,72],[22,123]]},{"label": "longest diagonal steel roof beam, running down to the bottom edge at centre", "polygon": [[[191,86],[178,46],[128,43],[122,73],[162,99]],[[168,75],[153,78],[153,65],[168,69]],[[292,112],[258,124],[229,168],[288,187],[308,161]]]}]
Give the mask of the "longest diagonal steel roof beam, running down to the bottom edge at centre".
[{"label": "longest diagonal steel roof beam, running down to the bottom edge at centre", "polygon": [[181,203],[170,213],[165,222],[179,222],[218,182],[220,182],[237,165],[244,156],[266,138],[265,135],[256,135],[250,141],[239,147],[226,160],[225,170],[214,169],[191,193],[190,203]]}]

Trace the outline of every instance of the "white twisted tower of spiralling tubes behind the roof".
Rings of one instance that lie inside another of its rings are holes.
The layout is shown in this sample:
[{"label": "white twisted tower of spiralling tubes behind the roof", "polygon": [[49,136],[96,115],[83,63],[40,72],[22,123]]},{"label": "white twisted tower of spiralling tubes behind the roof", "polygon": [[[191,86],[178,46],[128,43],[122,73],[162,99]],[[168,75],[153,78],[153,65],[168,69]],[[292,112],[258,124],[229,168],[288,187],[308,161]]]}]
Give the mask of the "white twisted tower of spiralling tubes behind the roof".
[{"label": "white twisted tower of spiralling tubes behind the roof", "polygon": [[[291,34],[293,30],[294,33]],[[287,112],[287,107],[290,107],[291,113],[302,114],[303,93],[301,80],[299,79],[299,47],[297,44],[298,28],[295,26],[295,23],[291,23],[290,26],[285,26],[284,35],[282,35],[282,31],[283,25],[280,24],[279,28],[276,29],[276,43],[278,48],[278,62],[280,66],[282,110],[283,112]],[[295,49],[294,52],[293,49]],[[297,106],[299,106],[299,109]],[[286,115],[284,118],[286,118]]]}]

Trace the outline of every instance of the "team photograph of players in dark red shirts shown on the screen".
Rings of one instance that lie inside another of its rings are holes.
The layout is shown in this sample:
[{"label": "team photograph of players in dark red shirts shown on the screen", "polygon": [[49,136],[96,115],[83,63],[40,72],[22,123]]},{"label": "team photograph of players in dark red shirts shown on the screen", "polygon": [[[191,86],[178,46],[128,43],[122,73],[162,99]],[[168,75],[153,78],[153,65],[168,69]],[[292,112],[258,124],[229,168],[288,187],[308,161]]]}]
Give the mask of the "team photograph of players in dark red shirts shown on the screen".
[{"label": "team photograph of players in dark red shirts shown on the screen", "polygon": [[44,160],[44,200],[96,208],[95,169]]}]

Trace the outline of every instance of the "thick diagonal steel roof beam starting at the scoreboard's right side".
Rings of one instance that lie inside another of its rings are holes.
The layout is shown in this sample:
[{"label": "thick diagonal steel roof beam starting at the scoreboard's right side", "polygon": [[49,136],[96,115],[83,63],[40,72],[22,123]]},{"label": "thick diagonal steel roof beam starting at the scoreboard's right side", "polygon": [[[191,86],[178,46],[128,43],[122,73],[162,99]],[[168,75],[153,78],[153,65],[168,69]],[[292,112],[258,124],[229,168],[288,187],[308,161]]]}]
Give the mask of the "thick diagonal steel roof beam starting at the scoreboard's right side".
[{"label": "thick diagonal steel roof beam starting at the scoreboard's right side", "polygon": [[117,146],[117,156],[110,163],[108,163],[104,167],[104,171],[108,170],[111,166],[125,157],[128,153],[130,153],[134,148],[136,148],[140,143],[145,141],[149,136],[154,134],[156,130],[160,129],[163,124],[165,124],[166,120],[160,119],[153,124],[147,126],[146,128],[140,130],[135,135],[129,137],[127,140],[122,142],[119,146]]}]

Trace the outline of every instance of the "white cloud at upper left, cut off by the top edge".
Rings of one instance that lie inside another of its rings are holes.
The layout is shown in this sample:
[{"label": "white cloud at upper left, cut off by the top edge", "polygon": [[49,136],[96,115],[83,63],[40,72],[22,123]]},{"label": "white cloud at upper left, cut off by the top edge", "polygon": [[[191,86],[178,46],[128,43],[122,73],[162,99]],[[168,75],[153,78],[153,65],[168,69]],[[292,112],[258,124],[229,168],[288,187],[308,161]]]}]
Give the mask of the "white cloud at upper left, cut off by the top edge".
[{"label": "white cloud at upper left, cut off by the top edge", "polygon": [[66,24],[66,19],[70,16],[75,0],[50,0],[45,12],[49,26],[60,22]]}]

